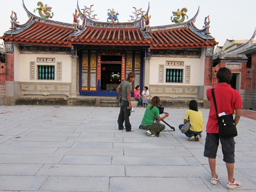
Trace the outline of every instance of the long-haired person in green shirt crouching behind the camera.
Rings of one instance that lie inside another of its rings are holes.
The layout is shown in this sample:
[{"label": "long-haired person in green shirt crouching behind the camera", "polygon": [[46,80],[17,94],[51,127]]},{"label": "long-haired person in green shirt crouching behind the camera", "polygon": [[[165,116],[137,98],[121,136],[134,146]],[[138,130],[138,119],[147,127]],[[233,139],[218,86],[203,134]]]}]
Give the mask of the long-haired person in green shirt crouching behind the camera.
[{"label": "long-haired person in green shirt crouching behind the camera", "polygon": [[160,104],[160,98],[155,96],[151,99],[151,104],[148,104],[144,117],[141,121],[141,129],[146,130],[146,134],[150,137],[159,137],[159,133],[165,129],[164,124],[154,123],[155,118],[158,121],[163,120],[165,117],[168,117],[169,114],[166,113],[165,116],[160,117],[159,109],[157,106]]}]

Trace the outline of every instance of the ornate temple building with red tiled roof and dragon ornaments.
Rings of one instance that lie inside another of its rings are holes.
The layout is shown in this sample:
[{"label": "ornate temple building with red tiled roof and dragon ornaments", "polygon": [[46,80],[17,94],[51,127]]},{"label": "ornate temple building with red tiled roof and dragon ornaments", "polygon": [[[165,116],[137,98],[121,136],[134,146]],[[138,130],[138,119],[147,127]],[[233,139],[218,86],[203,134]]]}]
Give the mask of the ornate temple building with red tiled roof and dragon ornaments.
[{"label": "ornate temple building with red tiled roof and dragon ornaments", "polygon": [[[109,10],[108,22],[98,22],[92,6],[75,9],[73,24],[52,20],[51,7],[37,4],[36,16],[23,3],[28,21],[20,25],[11,14],[11,30],[1,39],[6,52],[6,103],[26,95],[117,96],[116,88],[129,72],[132,83],[147,86],[150,96],[206,102],[212,86],[212,56],[218,44],[186,8],[173,12],[172,25],[150,26],[147,11],[119,23]],[[44,10],[44,11],[43,11]],[[133,92],[132,92],[133,96]]]}]

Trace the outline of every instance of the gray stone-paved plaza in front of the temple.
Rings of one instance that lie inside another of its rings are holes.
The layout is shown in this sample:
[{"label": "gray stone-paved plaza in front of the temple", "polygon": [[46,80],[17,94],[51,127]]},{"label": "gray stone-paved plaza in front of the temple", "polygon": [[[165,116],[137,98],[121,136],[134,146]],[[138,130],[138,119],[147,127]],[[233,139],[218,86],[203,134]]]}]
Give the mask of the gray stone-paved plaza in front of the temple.
[{"label": "gray stone-paved plaza in front of the temple", "polygon": [[[119,131],[119,108],[0,106],[0,191],[229,191],[221,146],[217,185],[210,184],[199,142],[186,141],[178,125],[187,109],[165,109],[167,132],[149,137],[139,125],[144,108],[130,120],[135,132]],[[208,109],[201,109],[204,127]],[[236,140],[237,189],[256,191],[255,120],[241,117]]]}]

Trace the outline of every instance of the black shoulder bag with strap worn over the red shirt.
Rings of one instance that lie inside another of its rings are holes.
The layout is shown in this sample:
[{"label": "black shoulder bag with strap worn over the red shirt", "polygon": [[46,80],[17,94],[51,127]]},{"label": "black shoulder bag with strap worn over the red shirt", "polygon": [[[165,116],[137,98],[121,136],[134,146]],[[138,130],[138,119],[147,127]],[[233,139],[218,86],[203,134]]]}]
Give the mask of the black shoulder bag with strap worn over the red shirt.
[{"label": "black shoulder bag with strap worn over the red shirt", "polygon": [[218,124],[219,124],[219,134],[221,137],[236,137],[238,136],[237,127],[234,124],[233,116],[228,115],[222,115],[219,117],[218,110],[217,110],[217,104],[214,94],[214,88],[211,88],[211,95],[214,99],[214,106],[216,110],[216,115],[218,117]]}]

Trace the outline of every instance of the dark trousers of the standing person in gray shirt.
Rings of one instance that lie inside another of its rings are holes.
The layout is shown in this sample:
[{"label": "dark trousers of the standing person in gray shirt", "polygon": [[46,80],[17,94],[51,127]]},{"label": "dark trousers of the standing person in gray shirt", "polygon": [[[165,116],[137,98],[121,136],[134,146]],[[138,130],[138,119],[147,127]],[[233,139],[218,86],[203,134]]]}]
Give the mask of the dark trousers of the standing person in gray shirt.
[{"label": "dark trousers of the standing person in gray shirt", "polygon": [[131,115],[131,110],[129,110],[129,102],[122,100],[121,99],[121,108],[120,108],[120,112],[119,112],[119,116],[118,116],[118,129],[122,130],[123,129],[123,121],[124,121],[124,125],[125,125],[125,129],[126,131],[131,131],[132,129],[132,125],[130,123],[130,115]]}]

